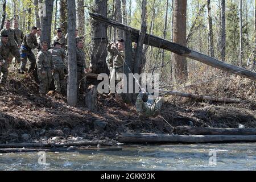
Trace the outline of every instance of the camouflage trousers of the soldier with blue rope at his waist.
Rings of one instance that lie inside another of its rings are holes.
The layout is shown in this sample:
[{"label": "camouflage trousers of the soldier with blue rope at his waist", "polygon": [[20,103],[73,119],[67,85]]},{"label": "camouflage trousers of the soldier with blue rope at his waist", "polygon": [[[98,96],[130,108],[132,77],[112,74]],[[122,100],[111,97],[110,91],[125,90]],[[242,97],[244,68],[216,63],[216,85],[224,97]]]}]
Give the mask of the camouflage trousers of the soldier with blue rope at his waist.
[{"label": "camouflage trousers of the soldier with blue rope at his waist", "polygon": [[29,71],[34,71],[36,68],[36,59],[35,55],[31,50],[21,49],[20,50],[20,70],[25,71],[27,59],[30,61]]}]

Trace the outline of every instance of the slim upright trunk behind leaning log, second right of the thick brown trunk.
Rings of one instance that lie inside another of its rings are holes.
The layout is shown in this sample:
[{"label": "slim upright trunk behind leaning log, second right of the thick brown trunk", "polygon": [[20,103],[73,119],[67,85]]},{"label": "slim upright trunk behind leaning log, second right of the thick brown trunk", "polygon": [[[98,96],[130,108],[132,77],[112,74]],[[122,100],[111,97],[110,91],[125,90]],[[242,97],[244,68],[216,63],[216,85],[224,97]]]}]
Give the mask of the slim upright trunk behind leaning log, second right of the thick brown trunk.
[{"label": "slim upright trunk behind leaning log, second right of the thick brown trunk", "polygon": [[226,57],[226,2],[221,0],[221,61]]}]

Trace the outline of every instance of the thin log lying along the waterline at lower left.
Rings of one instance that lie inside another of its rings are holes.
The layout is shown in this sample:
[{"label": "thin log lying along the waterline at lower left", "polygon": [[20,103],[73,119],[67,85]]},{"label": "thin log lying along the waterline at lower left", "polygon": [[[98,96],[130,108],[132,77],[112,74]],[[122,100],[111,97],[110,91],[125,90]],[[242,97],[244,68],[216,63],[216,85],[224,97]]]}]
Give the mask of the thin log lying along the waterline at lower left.
[{"label": "thin log lying along the waterline at lower left", "polygon": [[71,143],[10,143],[0,144],[0,148],[53,148],[53,147],[64,147],[64,146],[112,146],[113,143],[106,142],[105,140],[97,141],[84,141],[84,142],[71,142]]}]

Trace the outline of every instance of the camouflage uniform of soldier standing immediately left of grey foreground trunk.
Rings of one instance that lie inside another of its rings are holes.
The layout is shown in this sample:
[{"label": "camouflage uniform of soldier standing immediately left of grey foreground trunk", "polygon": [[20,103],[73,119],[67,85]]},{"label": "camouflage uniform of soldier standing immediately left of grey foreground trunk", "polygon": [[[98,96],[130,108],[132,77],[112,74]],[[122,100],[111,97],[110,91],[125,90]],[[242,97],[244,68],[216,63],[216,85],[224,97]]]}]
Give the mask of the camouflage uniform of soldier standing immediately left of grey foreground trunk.
[{"label": "camouflage uniform of soldier standing immediately left of grey foreground trunk", "polygon": [[63,48],[52,48],[49,49],[52,55],[53,63],[53,79],[56,92],[60,92],[61,89],[65,92],[66,82],[64,75],[64,57],[66,56],[65,50]]}]

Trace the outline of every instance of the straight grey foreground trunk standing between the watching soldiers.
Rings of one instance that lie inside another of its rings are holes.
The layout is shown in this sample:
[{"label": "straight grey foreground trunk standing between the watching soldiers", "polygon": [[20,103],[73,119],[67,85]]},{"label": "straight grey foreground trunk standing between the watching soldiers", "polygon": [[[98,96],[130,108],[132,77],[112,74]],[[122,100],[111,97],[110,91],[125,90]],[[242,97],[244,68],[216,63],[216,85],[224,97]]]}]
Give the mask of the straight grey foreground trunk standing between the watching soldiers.
[{"label": "straight grey foreground trunk standing between the watching soldiers", "polygon": [[77,105],[76,1],[68,0],[68,104]]}]

